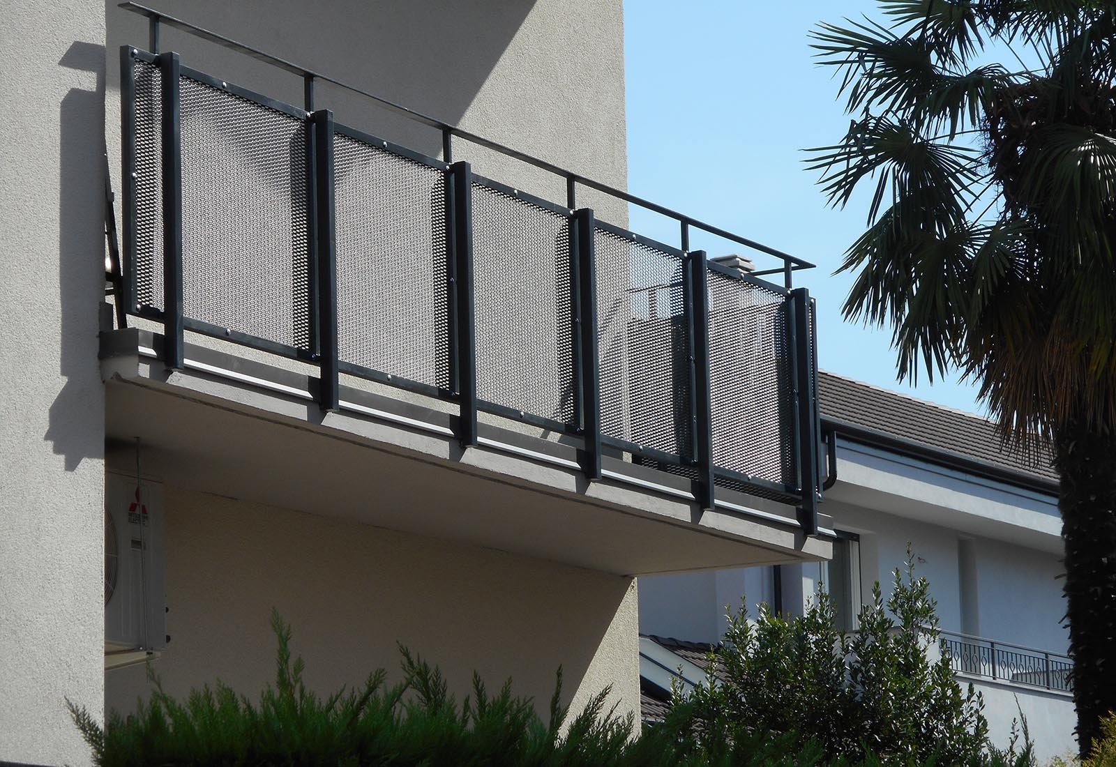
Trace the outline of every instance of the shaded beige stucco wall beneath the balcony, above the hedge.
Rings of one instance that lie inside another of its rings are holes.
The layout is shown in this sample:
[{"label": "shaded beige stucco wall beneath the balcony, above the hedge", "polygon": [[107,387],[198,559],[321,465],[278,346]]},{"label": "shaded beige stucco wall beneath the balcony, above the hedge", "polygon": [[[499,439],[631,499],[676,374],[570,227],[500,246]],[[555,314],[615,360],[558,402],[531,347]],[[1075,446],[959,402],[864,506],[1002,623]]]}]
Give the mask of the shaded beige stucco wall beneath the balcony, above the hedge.
[{"label": "shaded beige stucco wall beneath the balcony, above the hedge", "polygon": [[[545,709],[561,666],[575,710],[609,685],[620,711],[638,706],[633,579],[171,486],[165,498],[172,640],[155,670],[169,692],[220,678],[254,696],[275,676],[275,605],[319,692],[381,667],[398,681],[400,641],[460,695],[475,669]],[[131,710],[144,676],[107,672],[106,706]]]}]

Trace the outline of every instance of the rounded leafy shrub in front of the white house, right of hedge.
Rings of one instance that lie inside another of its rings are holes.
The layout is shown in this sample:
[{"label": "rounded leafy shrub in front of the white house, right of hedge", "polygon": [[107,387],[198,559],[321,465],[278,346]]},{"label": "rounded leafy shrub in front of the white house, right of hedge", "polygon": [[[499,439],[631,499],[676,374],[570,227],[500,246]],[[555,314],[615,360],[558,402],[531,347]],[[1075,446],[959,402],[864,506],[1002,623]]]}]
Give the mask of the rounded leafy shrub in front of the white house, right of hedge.
[{"label": "rounded leafy shrub in front of the white house, right of hedge", "polygon": [[[854,761],[960,765],[989,755],[983,699],[972,685],[961,690],[944,654],[927,654],[939,638],[936,605],[910,550],[894,579],[886,603],[875,584],[853,634],[837,629],[824,595],[802,616],[766,605],[754,623],[730,613],[708,683],[675,696],[693,707],[699,739],[722,751],[742,734],[797,734],[800,747],[812,741],[826,758]],[[1029,760],[1029,747],[999,756]]]}]

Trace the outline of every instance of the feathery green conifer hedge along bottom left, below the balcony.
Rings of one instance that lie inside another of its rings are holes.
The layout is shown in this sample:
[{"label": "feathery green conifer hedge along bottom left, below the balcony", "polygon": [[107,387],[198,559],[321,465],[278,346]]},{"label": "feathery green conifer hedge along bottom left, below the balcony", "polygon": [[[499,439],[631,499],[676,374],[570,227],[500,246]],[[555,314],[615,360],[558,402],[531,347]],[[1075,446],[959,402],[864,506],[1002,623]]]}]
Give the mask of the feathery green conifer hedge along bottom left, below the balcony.
[{"label": "feathery green conifer hedge along bottom left, below the balcony", "polygon": [[[404,681],[385,686],[371,674],[358,690],[321,699],[302,682],[301,658],[291,661],[290,628],[272,612],[278,640],[275,685],[258,703],[218,682],[185,702],[154,690],[127,718],[112,712],[102,729],[73,705],[70,711],[97,765],[665,765],[629,745],[634,718],[606,710],[609,691],[593,698],[562,732],[561,672],[549,721],[510,682],[490,695],[474,674],[460,703],[442,673],[401,648]],[[593,758],[590,758],[593,757]],[[596,758],[596,757],[599,757]],[[622,759],[624,759],[622,761]]]}]

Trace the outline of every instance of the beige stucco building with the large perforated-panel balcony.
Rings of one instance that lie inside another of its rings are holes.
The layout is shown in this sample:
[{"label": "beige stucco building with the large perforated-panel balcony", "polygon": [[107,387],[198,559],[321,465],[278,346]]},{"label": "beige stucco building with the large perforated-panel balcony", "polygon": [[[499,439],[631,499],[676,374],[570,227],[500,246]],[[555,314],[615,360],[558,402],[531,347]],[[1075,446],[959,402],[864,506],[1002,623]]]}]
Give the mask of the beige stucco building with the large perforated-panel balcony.
[{"label": "beige stucco building with the large perforated-panel balcony", "polygon": [[635,576],[830,556],[807,264],[623,229],[620,3],[151,1],[4,13],[0,761],[272,606],[634,711]]}]

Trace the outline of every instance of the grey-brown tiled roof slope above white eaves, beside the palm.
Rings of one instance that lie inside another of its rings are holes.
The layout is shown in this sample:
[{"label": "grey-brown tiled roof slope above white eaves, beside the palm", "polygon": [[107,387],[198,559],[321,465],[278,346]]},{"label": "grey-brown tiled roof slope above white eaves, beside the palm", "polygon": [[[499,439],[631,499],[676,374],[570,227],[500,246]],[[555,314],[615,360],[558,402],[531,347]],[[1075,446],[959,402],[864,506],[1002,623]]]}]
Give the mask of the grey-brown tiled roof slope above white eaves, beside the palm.
[{"label": "grey-brown tiled roof slope above white eaves, beside the palm", "polygon": [[993,467],[1022,472],[1037,479],[1058,482],[1048,450],[1028,457],[1002,449],[995,427],[980,416],[826,371],[818,372],[818,402],[822,419],[844,421]]}]

